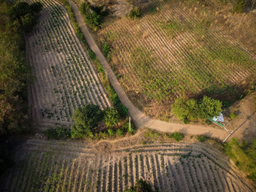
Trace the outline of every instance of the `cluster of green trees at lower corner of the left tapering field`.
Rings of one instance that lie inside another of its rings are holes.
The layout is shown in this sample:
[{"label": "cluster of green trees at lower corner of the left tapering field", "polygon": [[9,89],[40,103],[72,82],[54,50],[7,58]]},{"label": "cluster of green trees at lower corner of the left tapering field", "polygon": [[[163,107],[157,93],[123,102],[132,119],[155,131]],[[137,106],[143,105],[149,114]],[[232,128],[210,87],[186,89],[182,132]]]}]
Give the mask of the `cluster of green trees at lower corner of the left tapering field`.
[{"label": "cluster of green trees at lower corner of the left tapering field", "polygon": [[[77,108],[72,115],[72,120],[75,121],[75,125],[71,127],[72,138],[95,136],[95,128],[98,126],[99,122],[104,122],[105,126],[108,128],[109,136],[113,136],[114,130],[111,128],[120,123],[120,113],[113,107],[106,108],[102,111],[98,105],[90,103]],[[123,130],[117,130],[117,136],[121,136],[122,134]]]}]

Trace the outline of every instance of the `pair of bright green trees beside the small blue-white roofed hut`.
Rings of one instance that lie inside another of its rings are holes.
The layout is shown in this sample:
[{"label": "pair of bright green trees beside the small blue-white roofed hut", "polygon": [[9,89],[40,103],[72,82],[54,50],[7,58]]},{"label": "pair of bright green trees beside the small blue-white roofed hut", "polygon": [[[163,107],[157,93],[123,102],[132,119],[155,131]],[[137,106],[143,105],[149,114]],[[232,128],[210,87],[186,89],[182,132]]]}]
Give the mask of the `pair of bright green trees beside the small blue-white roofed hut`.
[{"label": "pair of bright green trees beside the small blue-white roofed hut", "polygon": [[218,116],[222,111],[222,102],[204,96],[203,99],[178,98],[172,105],[172,113],[176,117],[187,123],[190,120],[207,119],[208,117]]}]

